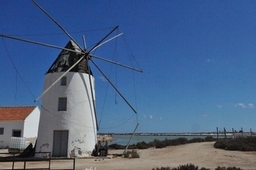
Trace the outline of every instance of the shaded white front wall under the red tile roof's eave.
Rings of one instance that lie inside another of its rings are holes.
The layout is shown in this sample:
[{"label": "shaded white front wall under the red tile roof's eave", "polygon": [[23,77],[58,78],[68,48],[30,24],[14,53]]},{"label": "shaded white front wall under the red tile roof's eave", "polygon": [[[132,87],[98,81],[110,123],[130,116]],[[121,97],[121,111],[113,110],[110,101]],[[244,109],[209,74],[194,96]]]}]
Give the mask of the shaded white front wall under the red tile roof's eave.
[{"label": "shaded white front wall under the red tile roof's eave", "polygon": [[21,130],[21,136],[23,136],[23,124],[23,121],[0,123],[0,127],[4,128],[4,134],[0,135],[0,148],[5,148],[9,145],[13,129]]}]

